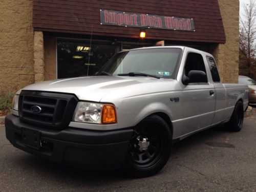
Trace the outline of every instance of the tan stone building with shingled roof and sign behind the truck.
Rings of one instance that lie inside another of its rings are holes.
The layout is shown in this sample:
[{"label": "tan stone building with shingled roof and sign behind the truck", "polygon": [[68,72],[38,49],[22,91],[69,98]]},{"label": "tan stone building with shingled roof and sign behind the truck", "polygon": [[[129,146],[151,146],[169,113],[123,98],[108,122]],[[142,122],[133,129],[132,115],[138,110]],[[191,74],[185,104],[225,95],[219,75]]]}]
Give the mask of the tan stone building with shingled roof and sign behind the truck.
[{"label": "tan stone building with shingled roof and sign behind the truck", "polygon": [[11,0],[0,6],[1,88],[93,75],[118,51],[156,45],[210,52],[222,81],[238,82],[239,0]]}]

